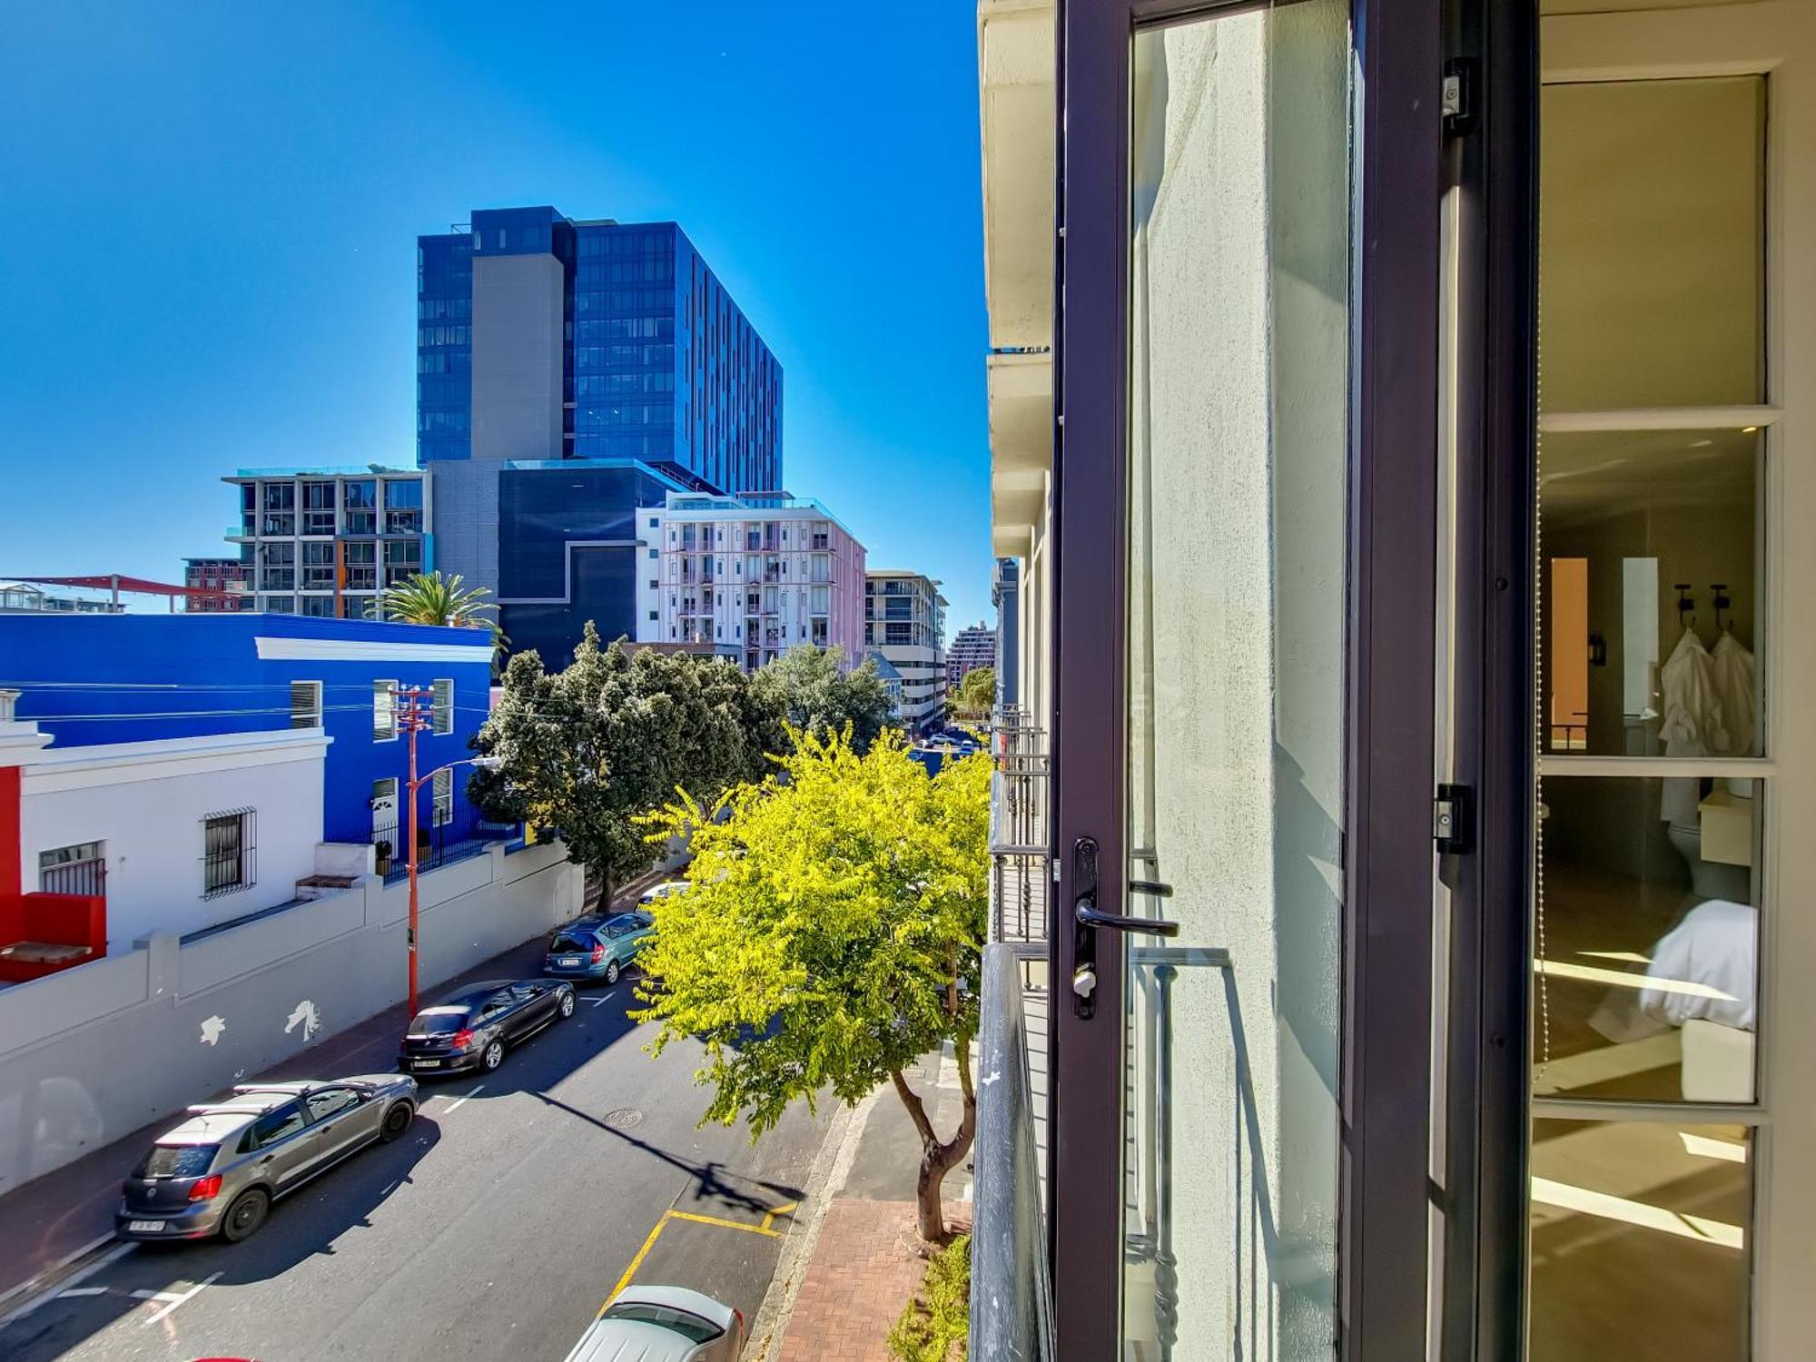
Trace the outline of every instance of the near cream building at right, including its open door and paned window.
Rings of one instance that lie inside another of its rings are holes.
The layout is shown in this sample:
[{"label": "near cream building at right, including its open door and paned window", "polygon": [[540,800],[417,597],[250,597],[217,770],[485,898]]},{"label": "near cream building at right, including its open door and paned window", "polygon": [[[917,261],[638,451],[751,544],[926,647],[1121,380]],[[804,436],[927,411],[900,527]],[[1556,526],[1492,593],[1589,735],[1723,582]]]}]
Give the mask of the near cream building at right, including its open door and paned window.
[{"label": "near cream building at right, including its open door and paned window", "polygon": [[979,78],[970,1357],[1803,1357],[1816,9],[982,0]]}]

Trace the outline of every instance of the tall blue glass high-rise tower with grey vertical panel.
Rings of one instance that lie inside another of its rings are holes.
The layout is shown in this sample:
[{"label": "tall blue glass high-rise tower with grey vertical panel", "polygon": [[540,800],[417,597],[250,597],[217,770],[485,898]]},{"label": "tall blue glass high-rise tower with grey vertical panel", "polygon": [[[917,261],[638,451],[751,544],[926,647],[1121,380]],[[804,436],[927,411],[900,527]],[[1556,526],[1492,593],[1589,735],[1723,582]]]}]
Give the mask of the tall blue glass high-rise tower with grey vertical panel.
[{"label": "tall blue glass high-rise tower with grey vertical panel", "polygon": [[418,238],[436,565],[558,665],[636,636],[636,508],[781,487],[781,365],[672,222],[485,209]]}]

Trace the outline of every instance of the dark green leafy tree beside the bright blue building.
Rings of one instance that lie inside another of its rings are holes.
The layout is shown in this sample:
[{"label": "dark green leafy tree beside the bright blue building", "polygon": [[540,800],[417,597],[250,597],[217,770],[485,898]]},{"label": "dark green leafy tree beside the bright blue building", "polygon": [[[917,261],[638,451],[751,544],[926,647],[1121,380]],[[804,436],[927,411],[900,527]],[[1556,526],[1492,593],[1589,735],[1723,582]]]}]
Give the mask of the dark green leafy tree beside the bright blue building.
[{"label": "dark green leafy tree beside the bright blue building", "polygon": [[587,625],[574,661],[543,668],[534,652],[505,666],[503,696],[474,737],[501,759],[469,785],[489,817],[559,828],[568,854],[612,884],[654,859],[641,814],[681,790],[716,799],[761,777],[786,741],[781,717],[730,661],[599,646]]}]

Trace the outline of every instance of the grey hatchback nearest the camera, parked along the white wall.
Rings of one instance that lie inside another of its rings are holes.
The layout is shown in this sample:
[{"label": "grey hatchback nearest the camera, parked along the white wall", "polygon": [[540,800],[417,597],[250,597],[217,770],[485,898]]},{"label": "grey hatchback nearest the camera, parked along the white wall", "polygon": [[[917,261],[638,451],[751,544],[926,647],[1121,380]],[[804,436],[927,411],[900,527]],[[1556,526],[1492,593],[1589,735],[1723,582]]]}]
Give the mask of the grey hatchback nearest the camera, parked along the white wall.
[{"label": "grey hatchback nearest the camera, parked along the white wall", "polygon": [[416,1079],[245,1082],[189,1108],[120,1186],[120,1239],[222,1239],[238,1244],[287,1197],[416,1119]]}]

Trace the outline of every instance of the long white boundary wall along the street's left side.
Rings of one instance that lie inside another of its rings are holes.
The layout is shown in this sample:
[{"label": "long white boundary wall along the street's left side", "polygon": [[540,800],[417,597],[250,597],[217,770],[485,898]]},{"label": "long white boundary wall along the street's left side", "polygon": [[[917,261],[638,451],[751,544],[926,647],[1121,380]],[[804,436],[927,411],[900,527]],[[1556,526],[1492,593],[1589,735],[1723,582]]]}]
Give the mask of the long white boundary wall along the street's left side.
[{"label": "long white boundary wall along the street's left side", "polygon": [[[434,988],[579,915],[583,879],[559,843],[499,844],[423,872],[419,893]],[[407,886],[367,875],[0,990],[0,1193],[403,1001],[405,915]]]}]

